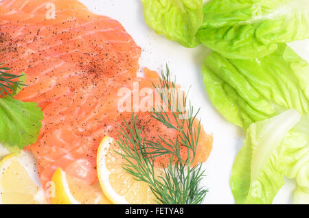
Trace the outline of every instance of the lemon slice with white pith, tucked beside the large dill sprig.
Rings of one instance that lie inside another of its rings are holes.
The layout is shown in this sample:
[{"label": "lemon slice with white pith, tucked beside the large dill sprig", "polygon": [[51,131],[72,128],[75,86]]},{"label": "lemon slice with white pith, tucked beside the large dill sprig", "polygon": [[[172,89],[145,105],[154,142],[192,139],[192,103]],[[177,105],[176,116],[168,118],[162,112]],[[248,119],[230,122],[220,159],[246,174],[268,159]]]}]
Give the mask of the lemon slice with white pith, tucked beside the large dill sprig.
[{"label": "lemon slice with white pith, tucked beside the large dill sprig", "polygon": [[98,178],[106,197],[114,204],[155,204],[153,195],[146,182],[137,181],[122,169],[124,158],[113,138],[103,138],[98,149]]}]

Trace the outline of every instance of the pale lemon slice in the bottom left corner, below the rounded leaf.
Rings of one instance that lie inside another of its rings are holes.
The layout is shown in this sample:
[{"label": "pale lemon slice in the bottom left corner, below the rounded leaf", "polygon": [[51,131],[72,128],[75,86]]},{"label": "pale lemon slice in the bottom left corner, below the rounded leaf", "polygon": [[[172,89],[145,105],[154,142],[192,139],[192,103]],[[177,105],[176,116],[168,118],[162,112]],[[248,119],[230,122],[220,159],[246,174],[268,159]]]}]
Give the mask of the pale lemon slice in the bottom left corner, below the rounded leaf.
[{"label": "pale lemon slice in the bottom left corner, below the rounded leaf", "polygon": [[29,152],[10,154],[0,162],[1,204],[46,204],[36,162]]}]

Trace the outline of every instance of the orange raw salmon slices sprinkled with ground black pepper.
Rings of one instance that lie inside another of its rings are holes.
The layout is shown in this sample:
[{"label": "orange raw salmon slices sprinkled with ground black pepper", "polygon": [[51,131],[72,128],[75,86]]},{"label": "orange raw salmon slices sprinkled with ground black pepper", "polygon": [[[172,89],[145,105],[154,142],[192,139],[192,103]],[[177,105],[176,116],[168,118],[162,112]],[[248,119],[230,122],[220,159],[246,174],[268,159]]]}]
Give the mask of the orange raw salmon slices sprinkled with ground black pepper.
[{"label": "orange raw salmon slices sprinkled with ground black pepper", "polygon": [[[117,138],[123,119],[132,116],[117,110],[118,90],[159,82],[156,72],[140,70],[140,47],[120,23],[75,0],[1,1],[0,42],[1,62],[27,75],[16,99],[36,102],[44,113],[38,141],[27,147],[38,160],[43,186],[58,167],[96,182],[100,141]],[[176,137],[148,112],[137,117],[146,138]],[[194,162],[207,160],[211,146],[212,136],[202,129]]]}]

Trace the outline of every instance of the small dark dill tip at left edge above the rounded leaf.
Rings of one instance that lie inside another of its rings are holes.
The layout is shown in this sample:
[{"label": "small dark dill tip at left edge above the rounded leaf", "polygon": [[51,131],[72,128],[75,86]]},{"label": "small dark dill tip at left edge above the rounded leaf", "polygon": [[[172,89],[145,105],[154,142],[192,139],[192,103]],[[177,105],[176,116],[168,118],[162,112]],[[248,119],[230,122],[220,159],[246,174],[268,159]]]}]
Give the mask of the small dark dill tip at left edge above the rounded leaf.
[{"label": "small dark dill tip at left edge above the rounded leaf", "polygon": [[[3,64],[4,63],[0,63],[0,66]],[[5,72],[9,70],[10,68],[8,67],[0,67],[0,96],[9,95],[12,97],[12,94],[16,95],[17,90],[21,90],[23,86],[26,86],[23,84],[23,81],[18,80],[24,74],[14,75],[12,73]]]}]

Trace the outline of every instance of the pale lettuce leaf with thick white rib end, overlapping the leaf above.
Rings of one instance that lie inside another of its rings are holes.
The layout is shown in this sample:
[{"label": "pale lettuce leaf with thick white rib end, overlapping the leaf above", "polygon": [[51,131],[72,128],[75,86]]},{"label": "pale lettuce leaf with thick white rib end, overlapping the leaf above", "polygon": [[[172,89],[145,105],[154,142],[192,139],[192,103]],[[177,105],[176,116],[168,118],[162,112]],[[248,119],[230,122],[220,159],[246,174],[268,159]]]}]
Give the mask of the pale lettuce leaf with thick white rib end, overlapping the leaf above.
[{"label": "pale lettuce leaf with thick white rib end, overlapping the leaf above", "polygon": [[231,171],[231,191],[237,204],[271,204],[284,184],[280,142],[301,115],[290,109],[252,123],[244,147]]}]

